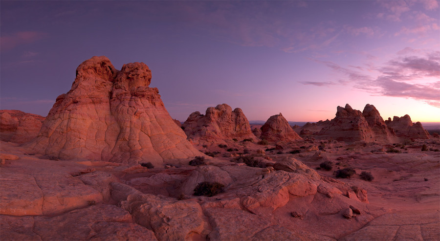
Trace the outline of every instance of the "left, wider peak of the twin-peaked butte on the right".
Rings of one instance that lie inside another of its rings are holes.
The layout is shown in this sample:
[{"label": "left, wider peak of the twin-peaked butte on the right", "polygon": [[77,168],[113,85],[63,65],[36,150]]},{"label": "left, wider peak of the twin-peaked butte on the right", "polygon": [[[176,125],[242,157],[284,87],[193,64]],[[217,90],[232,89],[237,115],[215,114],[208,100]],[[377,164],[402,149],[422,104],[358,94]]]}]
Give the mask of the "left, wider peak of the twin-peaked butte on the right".
[{"label": "left, wider peak of the twin-peaked butte on the right", "polygon": [[337,141],[374,141],[373,131],[359,110],[353,110],[347,104],[345,108],[338,106],[336,117],[327,128],[319,131],[320,138],[333,138]]}]

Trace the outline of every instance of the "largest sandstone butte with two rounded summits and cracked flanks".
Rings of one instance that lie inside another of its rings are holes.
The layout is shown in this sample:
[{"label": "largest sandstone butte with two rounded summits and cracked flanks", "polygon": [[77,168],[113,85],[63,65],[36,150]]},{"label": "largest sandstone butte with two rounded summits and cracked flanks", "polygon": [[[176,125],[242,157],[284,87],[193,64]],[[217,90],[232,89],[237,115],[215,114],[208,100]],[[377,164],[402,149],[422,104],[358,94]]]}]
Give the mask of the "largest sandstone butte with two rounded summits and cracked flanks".
[{"label": "largest sandstone butte with two rounded summits and cracked flanks", "polygon": [[168,114],[157,88],[148,87],[150,82],[144,63],[117,70],[105,56],[86,60],[26,147],[50,158],[121,163],[160,164],[201,154]]}]

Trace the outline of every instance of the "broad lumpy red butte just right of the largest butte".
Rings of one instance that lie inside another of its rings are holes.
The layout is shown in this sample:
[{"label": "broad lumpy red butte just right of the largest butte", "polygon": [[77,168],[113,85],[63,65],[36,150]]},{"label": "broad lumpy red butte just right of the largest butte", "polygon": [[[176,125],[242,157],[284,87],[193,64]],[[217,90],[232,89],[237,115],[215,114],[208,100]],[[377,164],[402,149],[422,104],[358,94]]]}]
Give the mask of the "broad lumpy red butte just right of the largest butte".
[{"label": "broad lumpy red butte just right of the largest butte", "polygon": [[205,115],[198,111],[191,113],[182,128],[188,138],[196,143],[256,138],[243,111],[240,108],[232,110],[226,104],[209,107]]}]

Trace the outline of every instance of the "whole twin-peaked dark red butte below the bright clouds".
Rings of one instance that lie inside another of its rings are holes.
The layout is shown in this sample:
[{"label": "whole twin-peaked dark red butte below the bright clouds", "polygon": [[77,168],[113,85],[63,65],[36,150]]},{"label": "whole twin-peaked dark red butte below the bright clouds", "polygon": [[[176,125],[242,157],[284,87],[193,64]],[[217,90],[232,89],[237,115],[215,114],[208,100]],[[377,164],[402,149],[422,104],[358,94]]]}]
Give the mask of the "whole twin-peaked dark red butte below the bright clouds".
[{"label": "whole twin-peaked dark red butte below the bright clouds", "polygon": [[363,112],[352,109],[349,104],[345,108],[338,106],[330,125],[319,131],[317,136],[346,142],[390,143],[396,140],[395,133],[385,125],[376,108],[369,104]]}]

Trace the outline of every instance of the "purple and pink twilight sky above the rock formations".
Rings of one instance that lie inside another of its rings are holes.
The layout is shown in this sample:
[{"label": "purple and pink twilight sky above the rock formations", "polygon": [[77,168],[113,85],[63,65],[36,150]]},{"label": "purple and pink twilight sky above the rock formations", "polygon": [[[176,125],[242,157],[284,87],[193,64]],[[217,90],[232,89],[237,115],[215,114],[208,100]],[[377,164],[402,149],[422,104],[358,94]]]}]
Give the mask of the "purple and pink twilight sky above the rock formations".
[{"label": "purple and pink twilight sky above the rock formations", "polygon": [[440,122],[439,0],[0,1],[0,109],[46,116],[92,56],[143,62],[173,118],[376,107]]}]

